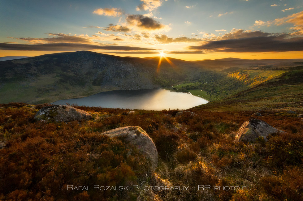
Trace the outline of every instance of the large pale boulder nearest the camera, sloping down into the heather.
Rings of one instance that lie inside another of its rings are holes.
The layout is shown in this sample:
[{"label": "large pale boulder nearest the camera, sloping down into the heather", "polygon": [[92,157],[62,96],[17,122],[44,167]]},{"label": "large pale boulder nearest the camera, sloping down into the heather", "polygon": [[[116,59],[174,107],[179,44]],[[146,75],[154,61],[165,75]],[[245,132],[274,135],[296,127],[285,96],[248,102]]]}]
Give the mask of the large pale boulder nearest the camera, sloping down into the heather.
[{"label": "large pale boulder nearest the camera, sloping down into the heather", "polygon": [[126,136],[126,141],[138,147],[150,161],[151,166],[155,169],[158,165],[158,151],[153,140],[147,135],[145,130],[139,126],[125,126],[106,131],[101,135],[110,137]]}]

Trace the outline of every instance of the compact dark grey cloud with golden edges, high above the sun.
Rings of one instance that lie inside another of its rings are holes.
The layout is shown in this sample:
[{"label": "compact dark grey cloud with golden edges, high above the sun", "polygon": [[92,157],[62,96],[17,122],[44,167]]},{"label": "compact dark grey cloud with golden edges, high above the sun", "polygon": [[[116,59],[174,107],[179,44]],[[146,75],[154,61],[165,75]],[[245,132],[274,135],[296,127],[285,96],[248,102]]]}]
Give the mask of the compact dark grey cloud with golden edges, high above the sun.
[{"label": "compact dark grey cloud with golden edges, high above the sun", "polygon": [[143,15],[128,15],[126,21],[129,24],[136,25],[139,28],[147,30],[155,30],[165,27],[164,24],[161,24],[160,22]]}]

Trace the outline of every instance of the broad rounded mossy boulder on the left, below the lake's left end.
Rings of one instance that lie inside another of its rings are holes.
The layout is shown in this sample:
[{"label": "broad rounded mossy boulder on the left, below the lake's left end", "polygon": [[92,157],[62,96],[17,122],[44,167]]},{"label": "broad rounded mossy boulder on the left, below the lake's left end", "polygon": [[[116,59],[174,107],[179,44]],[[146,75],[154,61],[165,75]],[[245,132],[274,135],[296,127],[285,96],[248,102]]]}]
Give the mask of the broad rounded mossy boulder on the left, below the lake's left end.
[{"label": "broad rounded mossy boulder on the left, below the lake's left end", "polygon": [[45,120],[50,122],[71,122],[71,121],[81,121],[89,120],[92,115],[89,113],[71,107],[69,105],[52,105],[43,107],[40,109],[36,116],[36,120]]}]

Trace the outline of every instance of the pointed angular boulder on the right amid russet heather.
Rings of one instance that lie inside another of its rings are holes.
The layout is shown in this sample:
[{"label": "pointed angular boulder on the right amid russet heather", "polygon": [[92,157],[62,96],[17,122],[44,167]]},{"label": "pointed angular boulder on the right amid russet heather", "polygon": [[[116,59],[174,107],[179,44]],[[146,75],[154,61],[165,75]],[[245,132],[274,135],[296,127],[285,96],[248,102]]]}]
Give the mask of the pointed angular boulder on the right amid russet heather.
[{"label": "pointed angular boulder on the right amid russet heather", "polygon": [[282,132],[284,131],[278,130],[262,120],[251,117],[247,122],[243,123],[236,133],[235,142],[254,142],[258,137],[262,137],[267,141],[268,135]]}]

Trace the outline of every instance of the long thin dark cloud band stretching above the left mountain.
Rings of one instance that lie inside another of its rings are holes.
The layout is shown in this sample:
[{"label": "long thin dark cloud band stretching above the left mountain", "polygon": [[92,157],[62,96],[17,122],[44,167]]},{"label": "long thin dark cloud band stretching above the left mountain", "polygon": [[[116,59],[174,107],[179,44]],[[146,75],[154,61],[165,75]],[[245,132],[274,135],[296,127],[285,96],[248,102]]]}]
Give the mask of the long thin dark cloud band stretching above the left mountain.
[{"label": "long thin dark cloud band stretching above the left mountain", "polygon": [[78,51],[78,50],[155,50],[151,48],[140,48],[118,45],[90,45],[80,43],[47,43],[47,44],[7,44],[0,43],[0,50],[28,50],[28,51]]}]

